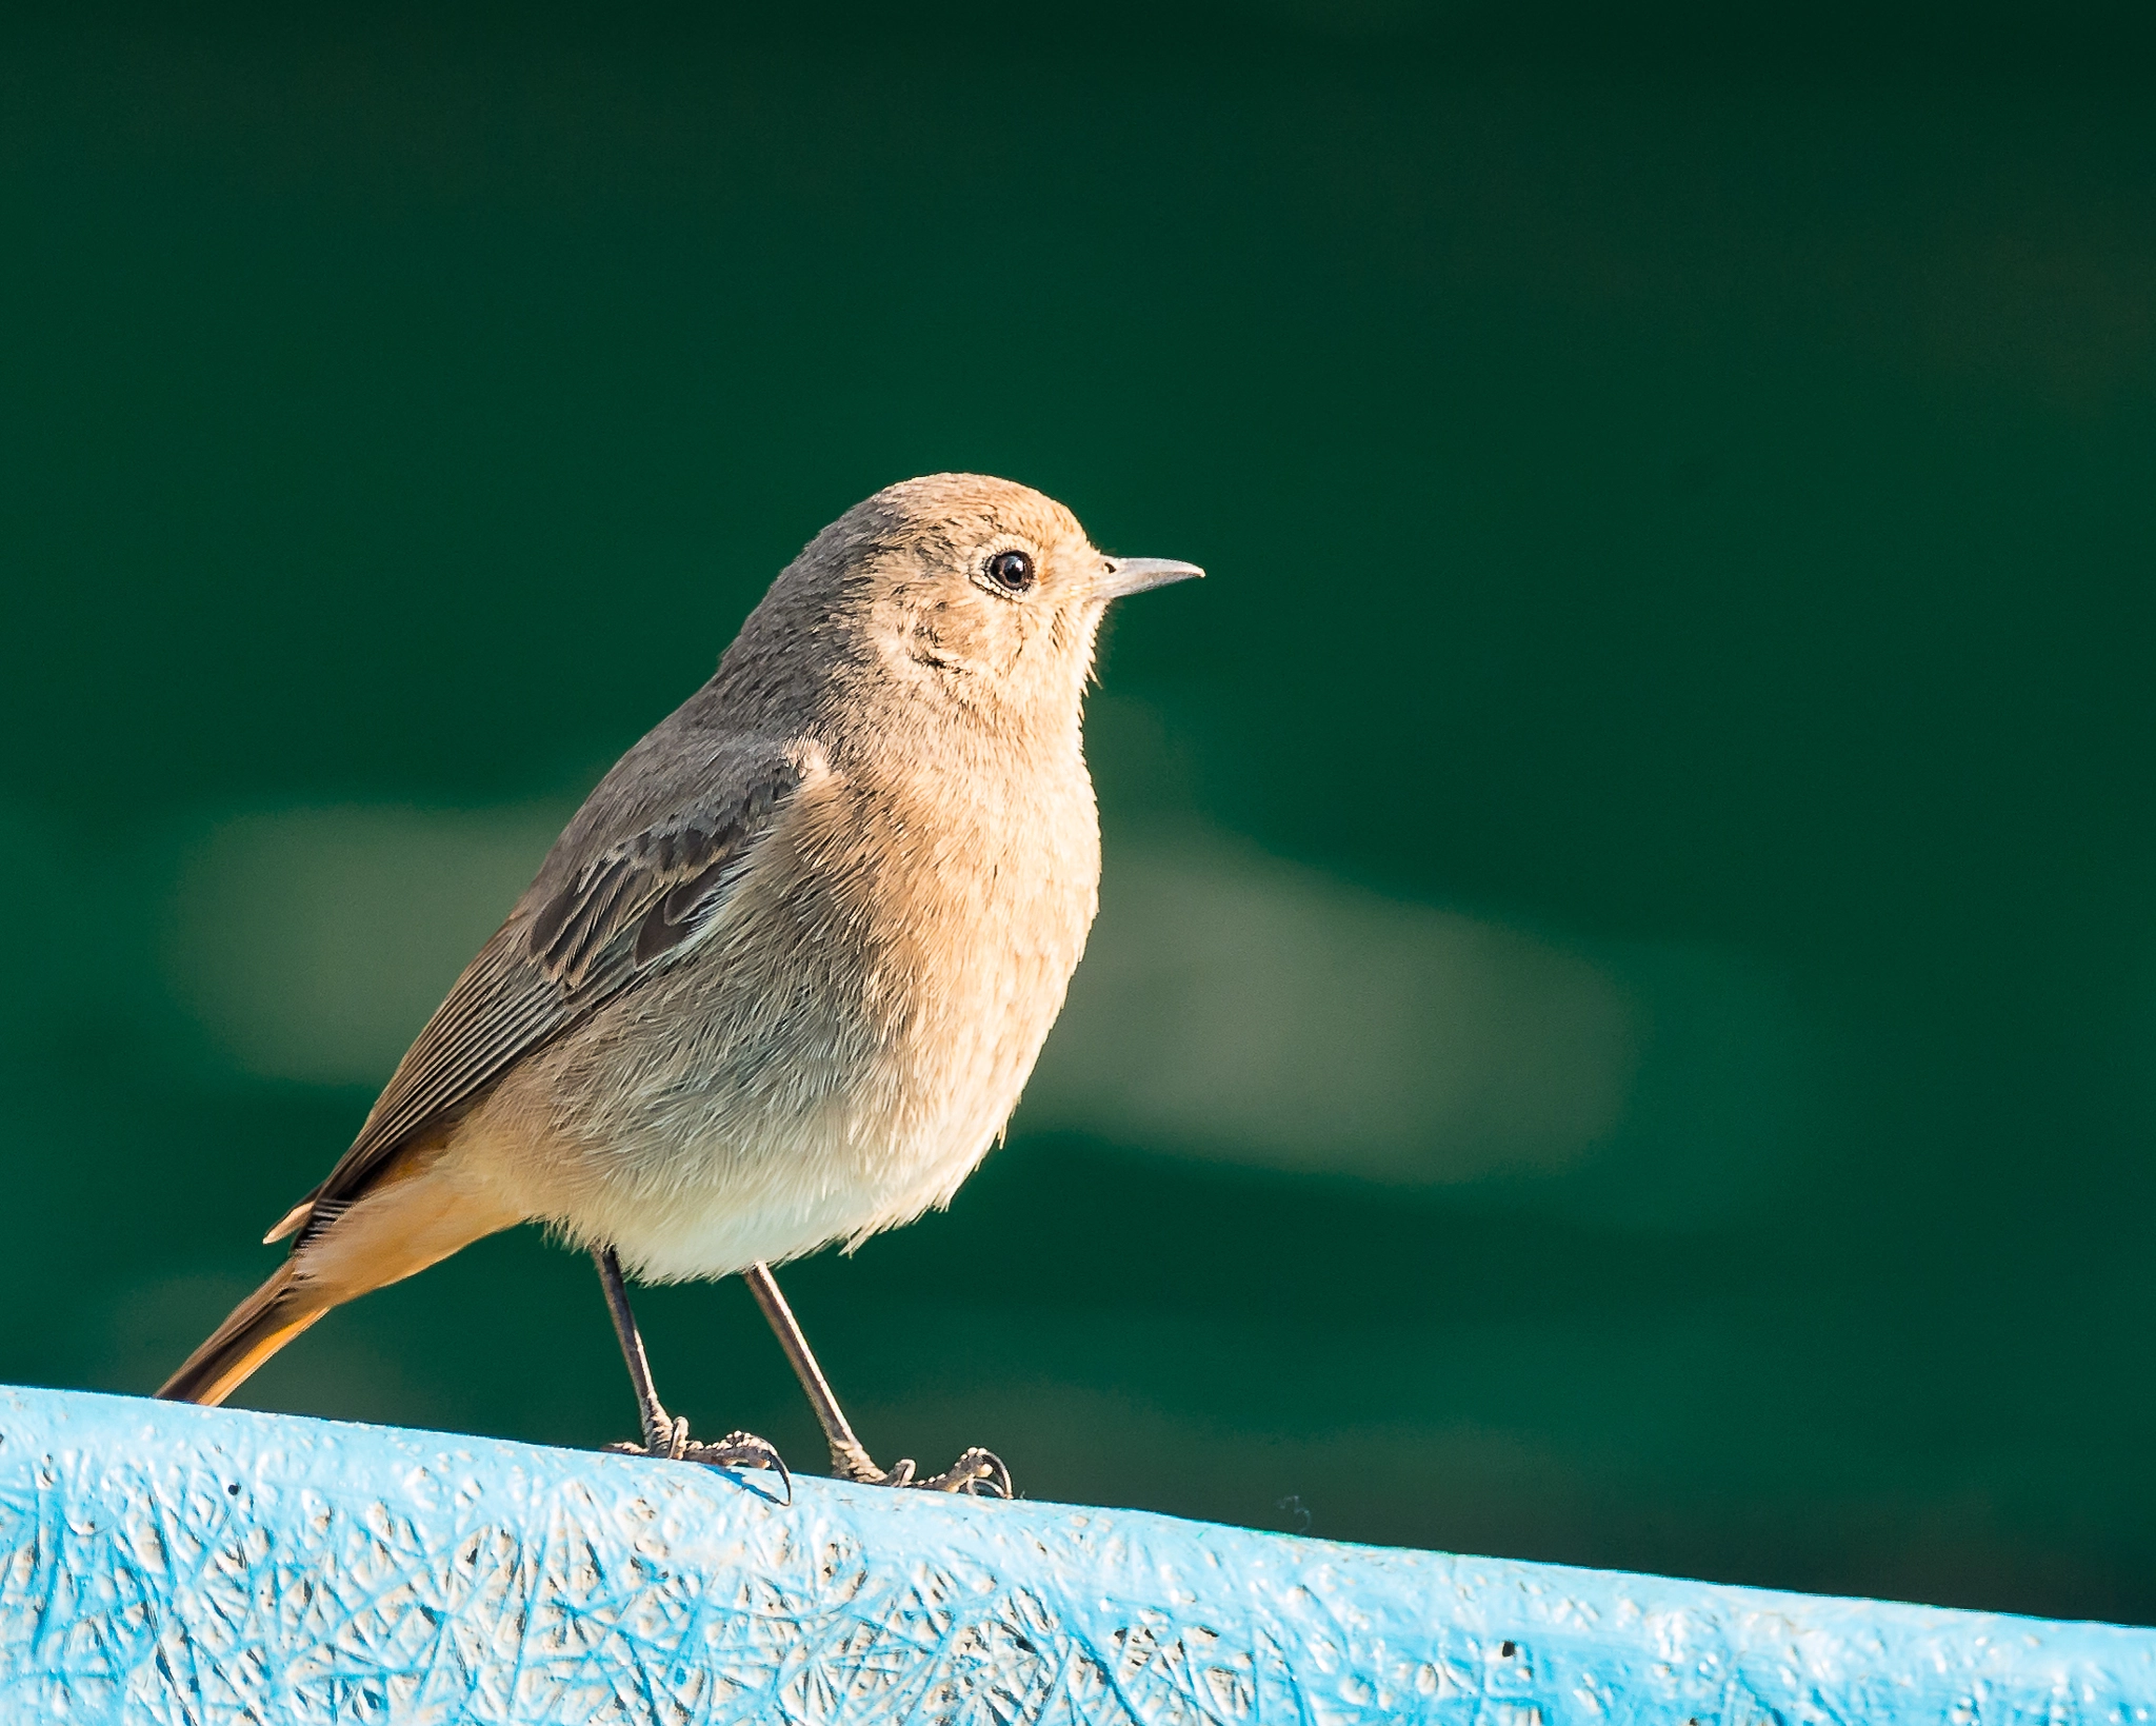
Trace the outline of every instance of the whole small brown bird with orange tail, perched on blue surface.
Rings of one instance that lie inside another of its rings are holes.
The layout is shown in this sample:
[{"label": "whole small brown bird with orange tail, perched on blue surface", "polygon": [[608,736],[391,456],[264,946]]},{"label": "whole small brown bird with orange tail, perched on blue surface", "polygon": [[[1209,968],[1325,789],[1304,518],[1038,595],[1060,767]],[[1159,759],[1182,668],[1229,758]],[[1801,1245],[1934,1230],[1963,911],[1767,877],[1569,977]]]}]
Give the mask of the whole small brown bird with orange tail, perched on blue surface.
[{"label": "whole small brown bird with orange tail, perched on blue surface", "polygon": [[291,1256],[157,1394],[222,1402],[330,1307],[539,1221],[599,1264],[642,1413],[619,1450],[783,1467],[748,1433],[690,1441],[623,1288],[742,1273],[832,1474],[1009,1495],[985,1450],[880,1469],[768,1266],[946,1204],[1000,1135],[1093,921],[1093,634],[1197,574],[1102,557],[979,475],[824,529],[599,781],[270,1230]]}]

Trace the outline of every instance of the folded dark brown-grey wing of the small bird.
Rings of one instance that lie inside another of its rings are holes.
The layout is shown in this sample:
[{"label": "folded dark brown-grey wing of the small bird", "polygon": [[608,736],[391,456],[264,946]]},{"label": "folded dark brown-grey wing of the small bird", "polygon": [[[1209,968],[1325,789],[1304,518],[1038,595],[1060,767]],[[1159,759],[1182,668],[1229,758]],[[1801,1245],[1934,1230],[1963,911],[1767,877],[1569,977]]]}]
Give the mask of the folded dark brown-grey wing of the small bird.
[{"label": "folded dark brown-grey wing of the small bird", "polygon": [[776,744],[733,738],[668,796],[638,783],[642,753],[617,768],[627,777],[612,798],[608,783],[593,792],[397,1064],[351,1150],[267,1241],[319,1232],[399,1150],[707,928],[804,777]]}]

